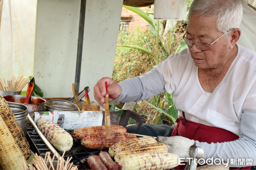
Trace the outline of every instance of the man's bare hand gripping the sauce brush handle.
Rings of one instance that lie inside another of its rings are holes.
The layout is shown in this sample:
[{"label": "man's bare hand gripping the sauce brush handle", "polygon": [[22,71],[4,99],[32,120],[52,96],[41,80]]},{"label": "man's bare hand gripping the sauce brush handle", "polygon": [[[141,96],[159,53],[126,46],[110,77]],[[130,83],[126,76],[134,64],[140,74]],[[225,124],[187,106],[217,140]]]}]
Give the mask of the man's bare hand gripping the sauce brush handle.
[{"label": "man's bare hand gripping the sauce brush handle", "polygon": [[106,95],[106,86],[105,82],[108,84],[108,102],[111,102],[113,99],[116,99],[121,94],[121,88],[113,79],[109,77],[104,77],[100,79],[96,85],[93,87],[94,98],[99,104],[105,108],[104,97]]}]

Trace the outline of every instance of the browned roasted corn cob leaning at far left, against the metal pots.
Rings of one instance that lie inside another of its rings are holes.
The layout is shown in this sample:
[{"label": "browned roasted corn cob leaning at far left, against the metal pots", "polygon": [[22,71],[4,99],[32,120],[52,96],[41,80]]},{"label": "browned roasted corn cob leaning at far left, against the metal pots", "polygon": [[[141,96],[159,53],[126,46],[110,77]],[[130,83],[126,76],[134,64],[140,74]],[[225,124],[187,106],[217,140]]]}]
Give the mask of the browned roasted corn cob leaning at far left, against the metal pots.
[{"label": "browned roasted corn cob leaning at far left, against the metal pots", "polygon": [[15,139],[15,142],[20,147],[24,155],[24,158],[28,159],[31,154],[29,142],[27,141],[23,130],[21,129],[14,114],[12,113],[11,108],[9,107],[6,100],[2,96],[0,96],[0,114],[6,126],[9,128],[10,132],[12,133],[12,136]]}]

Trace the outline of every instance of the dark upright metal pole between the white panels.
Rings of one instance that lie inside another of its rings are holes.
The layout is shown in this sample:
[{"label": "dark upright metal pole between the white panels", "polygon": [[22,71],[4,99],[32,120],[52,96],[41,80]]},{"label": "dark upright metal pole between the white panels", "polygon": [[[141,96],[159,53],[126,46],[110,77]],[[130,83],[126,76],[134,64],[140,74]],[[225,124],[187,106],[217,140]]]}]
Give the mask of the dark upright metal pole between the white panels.
[{"label": "dark upright metal pole between the white panels", "polygon": [[85,7],[86,7],[86,0],[81,0],[77,56],[76,56],[76,75],[75,75],[75,85],[76,85],[77,91],[79,91],[80,75],[81,75],[81,61],[82,61],[83,40],[84,40]]}]

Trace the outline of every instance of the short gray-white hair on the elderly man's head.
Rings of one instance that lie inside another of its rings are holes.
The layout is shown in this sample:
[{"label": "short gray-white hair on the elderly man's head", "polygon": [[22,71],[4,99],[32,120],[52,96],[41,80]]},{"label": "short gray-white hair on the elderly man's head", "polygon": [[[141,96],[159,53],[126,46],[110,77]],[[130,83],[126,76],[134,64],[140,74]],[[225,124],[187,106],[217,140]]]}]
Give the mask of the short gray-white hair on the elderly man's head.
[{"label": "short gray-white hair on the elderly man's head", "polygon": [[189,16],[197,17],[217,16],[216,27],[220,32],[226,32],[232,28],[239,28],[243,7],[241,0],[193,0]]}]

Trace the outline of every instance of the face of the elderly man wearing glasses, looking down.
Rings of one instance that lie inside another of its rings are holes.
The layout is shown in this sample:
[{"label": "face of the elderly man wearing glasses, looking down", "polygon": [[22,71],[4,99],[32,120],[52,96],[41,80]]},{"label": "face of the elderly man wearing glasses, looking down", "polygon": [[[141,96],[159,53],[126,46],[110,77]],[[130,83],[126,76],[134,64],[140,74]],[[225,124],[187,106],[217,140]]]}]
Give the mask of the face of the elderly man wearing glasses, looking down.
[{"label": "face of the elderly man wearing glasses, looking down", "polygon": [[[223,33],[216,28],[216,17],[189,18],[186,38],[195,42],[214,42]],[[229,39],[228,39],[229,40]],[[221,68],[229,59],[230,45],[226,38],[221,37],[210,45],[209,50],[201,51],[195,45],[189,51],[198,68]]]}]

